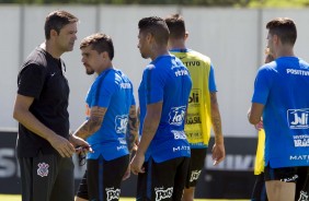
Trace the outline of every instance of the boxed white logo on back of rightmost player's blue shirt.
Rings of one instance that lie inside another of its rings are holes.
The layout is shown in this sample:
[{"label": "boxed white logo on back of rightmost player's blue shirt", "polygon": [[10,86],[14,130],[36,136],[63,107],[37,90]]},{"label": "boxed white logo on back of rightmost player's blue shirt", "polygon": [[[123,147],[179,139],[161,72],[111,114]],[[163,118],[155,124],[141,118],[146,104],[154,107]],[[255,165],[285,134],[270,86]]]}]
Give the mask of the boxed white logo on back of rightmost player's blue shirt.
[{"label": "boxed white logo on back of rightmost player's blue shirt", "polygon": [[308,129],[309,108],[288,109],[287,120],[290,129]]}]

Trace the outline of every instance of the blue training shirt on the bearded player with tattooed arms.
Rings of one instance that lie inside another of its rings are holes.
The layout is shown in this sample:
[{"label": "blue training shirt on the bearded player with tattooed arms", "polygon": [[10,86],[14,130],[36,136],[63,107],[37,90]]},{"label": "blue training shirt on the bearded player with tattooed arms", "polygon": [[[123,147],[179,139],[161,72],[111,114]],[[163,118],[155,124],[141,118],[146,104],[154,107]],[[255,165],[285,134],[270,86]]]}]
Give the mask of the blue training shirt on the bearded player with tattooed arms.
[{"label": "blue training shirt on the bearded player with tattooed arms", "polygon": [[135,105],[130,80],[121,70],[107,69],[95,79],[85,102],[89,109],[107,108],[100,130],[87,139],[94,151],[88,153],[88,158],[102,155],[111,161],[129,154],[126,130],[129,108]]}]

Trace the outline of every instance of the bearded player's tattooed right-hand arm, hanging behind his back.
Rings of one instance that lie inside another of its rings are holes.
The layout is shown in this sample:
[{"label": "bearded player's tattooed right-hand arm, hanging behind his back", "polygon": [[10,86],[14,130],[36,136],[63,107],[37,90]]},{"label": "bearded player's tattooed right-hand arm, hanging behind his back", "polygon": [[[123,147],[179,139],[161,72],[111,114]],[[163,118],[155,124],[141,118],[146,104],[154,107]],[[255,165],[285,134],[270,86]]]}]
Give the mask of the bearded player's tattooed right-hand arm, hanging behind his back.
[{"label": "bearded player's tattooed right-hand arm, hanging behind his back", "polygon": [[127,127],[127,144],[129,153],[131,153],[133,150],[136,150],[136,145],[138,144],[138,119],[136,114],[136,106],[131,105],[129,108],[129,117],[128,117],[128,127]]}]

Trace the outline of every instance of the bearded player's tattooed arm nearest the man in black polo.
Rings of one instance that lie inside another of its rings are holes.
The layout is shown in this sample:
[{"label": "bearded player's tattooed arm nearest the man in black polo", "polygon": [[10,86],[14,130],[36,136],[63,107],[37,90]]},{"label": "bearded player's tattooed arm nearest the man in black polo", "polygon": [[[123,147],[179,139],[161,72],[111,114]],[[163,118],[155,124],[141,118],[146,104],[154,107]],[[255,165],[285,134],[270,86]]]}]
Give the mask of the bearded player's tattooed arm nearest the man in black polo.
[{"label": "bearded player's tattooed arm nearest the man in black polo", "polygon": [[91,107],[89,119],[85,120],[76,130],[73,135],[77,135],[82,139],[87,139],[88,137],[96,132],[102,126],[106,110],[107,110],[106,107],[98,107],[98,106]]}]

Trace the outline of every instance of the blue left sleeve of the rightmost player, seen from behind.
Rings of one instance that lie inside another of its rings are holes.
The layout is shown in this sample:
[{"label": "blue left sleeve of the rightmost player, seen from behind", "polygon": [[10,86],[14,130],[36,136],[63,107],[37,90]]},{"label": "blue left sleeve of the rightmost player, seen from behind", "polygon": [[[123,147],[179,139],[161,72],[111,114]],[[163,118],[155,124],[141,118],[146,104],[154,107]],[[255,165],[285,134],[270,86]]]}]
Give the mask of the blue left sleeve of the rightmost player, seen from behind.
[{"label": "blue left sleeve of the rightmost player, seen from behind", "polygon": [[254,81],[254,92],[252,96],[252,103],[265,105],[271,88],[270,71],[266,68],[261,68],[258,71],[258,75]]}]

